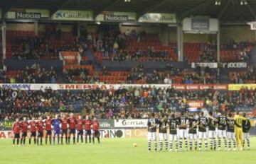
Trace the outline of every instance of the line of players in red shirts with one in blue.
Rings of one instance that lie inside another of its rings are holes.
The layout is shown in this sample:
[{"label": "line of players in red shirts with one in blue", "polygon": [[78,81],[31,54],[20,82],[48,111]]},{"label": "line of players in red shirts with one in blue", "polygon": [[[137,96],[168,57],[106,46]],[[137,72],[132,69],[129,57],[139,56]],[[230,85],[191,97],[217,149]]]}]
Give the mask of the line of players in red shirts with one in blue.
[{"label": "line of players in red shirts with one in blue", "polygon": [[[73,144],[78,143],[81,140],[83,143],[83,136],[85,134],[85,144],[87,144],[87,139],[89,139],[90,144],[95,143],[95,138],[97,138],[98,143],[100,144],[100,124],[97,121],[96,117],[93,120],[89,116],[86,116],[85,119],[82,119],[82,116],[78,116],[78,119],[74,117],[73,114],[70,114],[70,117],[63,115],[60,118],[59,115],[55,115],[55,118],[51,119],[50,116],[47,116],[47,119],[42,119],[38,117],[36,120],[35,117],[32,117],[31,121],[28,121],[26,117],[23,118],[23,121],[20,122],[19,119],[16,119],[13,125],[13,145],[25,145],[26,137],[29,133],[29,144],[33,139],[33,143],[37,145],[43,145],[43,130],[46,130],[46,145],[52,144],[63,144],[65,137],[65,144],[70,144],[70,139],[73,138]],[[52,132],[53,131],[53,132]],[[84,133],[85,132],[85,133]],[[77,133],[77,135],[76,135]],[[92,134],[92,138],[91,138]],[[75,136],[77,136],[75,141]]]}]

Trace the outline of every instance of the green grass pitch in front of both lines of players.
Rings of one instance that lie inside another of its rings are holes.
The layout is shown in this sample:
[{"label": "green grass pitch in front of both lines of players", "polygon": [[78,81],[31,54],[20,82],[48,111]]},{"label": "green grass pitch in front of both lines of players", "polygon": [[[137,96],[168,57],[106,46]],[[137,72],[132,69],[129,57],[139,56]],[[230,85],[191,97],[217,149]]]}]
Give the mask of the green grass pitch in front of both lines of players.
[{"label": "green grass pitch in front of both lines of players", "polygon": [[[251,138],[250,151],[188,151],[147,152],[146,139],[102,139],[102,144],[64,146],[13,147],[10,139],[0,140],[1,164],[75,164],[75,163],[197,163],[241,164],[255,163],[256,137]],[[133,144],[137,143],[137,148]]]}]

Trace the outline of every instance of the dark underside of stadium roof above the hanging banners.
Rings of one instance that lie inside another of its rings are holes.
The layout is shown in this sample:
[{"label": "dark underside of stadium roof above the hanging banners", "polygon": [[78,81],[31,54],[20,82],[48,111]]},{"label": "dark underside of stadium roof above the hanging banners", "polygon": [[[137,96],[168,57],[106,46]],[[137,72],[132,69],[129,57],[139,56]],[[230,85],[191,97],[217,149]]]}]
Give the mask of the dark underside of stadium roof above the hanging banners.
[{"label": "dark underside of stadium roof above the hanging banners", "polygon": [[[220,5],[215,5],[216,1]],[[59,9],[92,10],[95,15],[102,11],[132,11],[137,17],[150,12],[176,13],[177,18],[210,16],[220,18],[221,23],[256,21],[255,0],[2,0],[0,7],[3,15],[11,8],[41,8],[49,9],[51,14]]]}]

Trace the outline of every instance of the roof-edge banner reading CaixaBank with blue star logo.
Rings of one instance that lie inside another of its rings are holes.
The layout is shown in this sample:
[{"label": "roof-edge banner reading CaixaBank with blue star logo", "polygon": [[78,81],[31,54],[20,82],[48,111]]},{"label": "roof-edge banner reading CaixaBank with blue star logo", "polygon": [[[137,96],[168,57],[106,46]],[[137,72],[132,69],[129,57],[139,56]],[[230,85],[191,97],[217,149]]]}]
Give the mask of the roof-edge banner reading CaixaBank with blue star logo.
[{"label": "roof-edge banner reading CaixaBank with blue star logo", "polygon": [[93,21],[93,16],[92,11],[58,10],[53,14],[52,19],[60,21]]}]

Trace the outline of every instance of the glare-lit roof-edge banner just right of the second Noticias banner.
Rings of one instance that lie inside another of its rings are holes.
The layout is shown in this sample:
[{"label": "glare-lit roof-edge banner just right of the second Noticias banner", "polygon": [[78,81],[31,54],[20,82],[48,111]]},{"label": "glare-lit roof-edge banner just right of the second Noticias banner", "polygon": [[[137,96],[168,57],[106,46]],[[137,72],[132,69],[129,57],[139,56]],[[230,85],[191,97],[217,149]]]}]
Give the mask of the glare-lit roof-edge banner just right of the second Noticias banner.
[{"label": "glare-lit roof-edge banner just right of the second Noticias banner", "polygon": [[142,23],[177,23],[175,13],[145,13],[138,22]]}]

